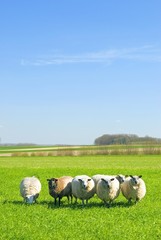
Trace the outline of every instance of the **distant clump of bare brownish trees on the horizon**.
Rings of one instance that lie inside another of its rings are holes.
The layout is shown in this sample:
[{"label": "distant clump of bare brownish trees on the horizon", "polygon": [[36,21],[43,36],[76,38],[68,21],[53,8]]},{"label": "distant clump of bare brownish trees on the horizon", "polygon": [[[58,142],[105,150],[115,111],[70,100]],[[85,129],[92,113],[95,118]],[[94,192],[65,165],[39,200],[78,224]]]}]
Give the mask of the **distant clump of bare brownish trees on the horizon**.
[{"label": "distant clump of bare brownish trees on the horizon", "polygon": [[149,136],[139,137],[135,134],[104,134],[95,139],[95,145],[117,145],[117,144],[161,144],[160,138]]}]

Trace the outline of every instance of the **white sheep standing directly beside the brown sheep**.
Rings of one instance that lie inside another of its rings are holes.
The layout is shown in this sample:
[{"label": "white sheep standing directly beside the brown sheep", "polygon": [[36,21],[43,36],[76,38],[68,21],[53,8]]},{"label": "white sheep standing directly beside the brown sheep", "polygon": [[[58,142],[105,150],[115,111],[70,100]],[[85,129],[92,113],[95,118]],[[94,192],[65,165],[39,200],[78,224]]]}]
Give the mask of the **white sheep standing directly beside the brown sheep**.
[{"label": "white sheep standing directly beside the brown sheep", "polygon": [[87,175],[76,176],[72,180],[72,194],[76,199],[82,200],[84,206],[85,200],[86,204],[88,200],[92,198],[95,194],[95,183],[92,178]]}]

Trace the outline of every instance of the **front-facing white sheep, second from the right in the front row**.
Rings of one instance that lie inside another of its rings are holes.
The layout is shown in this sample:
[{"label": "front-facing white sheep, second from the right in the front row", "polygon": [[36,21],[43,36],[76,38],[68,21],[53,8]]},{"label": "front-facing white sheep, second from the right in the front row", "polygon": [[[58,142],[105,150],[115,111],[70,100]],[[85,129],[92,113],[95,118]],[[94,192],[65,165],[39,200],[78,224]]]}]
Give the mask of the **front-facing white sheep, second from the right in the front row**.
[{"label": "front-facing white sheep, second from the right in the front row", "polygon": [[114,199],[120,194],[120,183],[116,177],[104,176],[96,186],[97,196],[110,207]]}]

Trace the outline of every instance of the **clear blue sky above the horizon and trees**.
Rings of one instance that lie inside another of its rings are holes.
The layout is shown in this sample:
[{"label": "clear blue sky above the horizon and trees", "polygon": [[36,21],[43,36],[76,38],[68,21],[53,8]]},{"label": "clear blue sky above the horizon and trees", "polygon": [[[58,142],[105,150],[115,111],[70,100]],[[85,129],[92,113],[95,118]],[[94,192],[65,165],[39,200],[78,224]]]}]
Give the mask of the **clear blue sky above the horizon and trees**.
[{"label": "clear blue sky above the horizon and trees", "polygon": [[161,138],[160,0],[0,4],[1,143]]}]

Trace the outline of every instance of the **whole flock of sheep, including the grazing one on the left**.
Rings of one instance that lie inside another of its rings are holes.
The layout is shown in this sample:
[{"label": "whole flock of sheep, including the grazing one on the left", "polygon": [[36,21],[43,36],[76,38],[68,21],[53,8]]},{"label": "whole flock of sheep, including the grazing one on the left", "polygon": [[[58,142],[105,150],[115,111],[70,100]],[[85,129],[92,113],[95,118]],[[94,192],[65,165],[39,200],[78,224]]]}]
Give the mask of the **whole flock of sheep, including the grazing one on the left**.
[{"label": "whole flock of sheep, including the grazing one on the left", "polygon": [[[146,194],[146,185],[142,176],[109,176],[97,174],[92,177],[80,175],[76,177],[63,176],[60,178],[47,179],[49,194],[54,198],[55,205],[60,206],[61,199],[66,196],[68,203],[73,196],[82,200],[84,205],[95,194],[107,206],[122,192],[123,196],[130,203],[132,200],[136,203]],[[33,203],[39,196],[41,183],[36,177],[26,177],[20,183],[20,194],[26,203]]]}]

